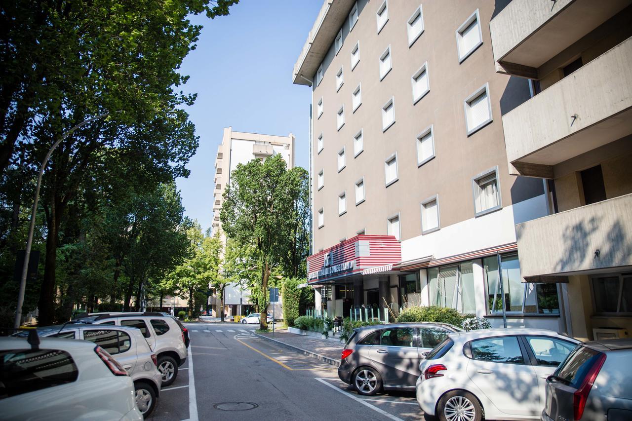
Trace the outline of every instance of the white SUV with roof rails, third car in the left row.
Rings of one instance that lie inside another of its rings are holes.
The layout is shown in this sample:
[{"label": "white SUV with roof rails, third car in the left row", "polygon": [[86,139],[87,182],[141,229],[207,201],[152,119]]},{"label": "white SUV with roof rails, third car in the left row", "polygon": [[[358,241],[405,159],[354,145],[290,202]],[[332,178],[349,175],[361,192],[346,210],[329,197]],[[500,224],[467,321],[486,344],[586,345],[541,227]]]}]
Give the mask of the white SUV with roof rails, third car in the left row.
[{"label": "white SUV with roof rails, third car in the left row", "polygon": [[185,334],[173,317],[157,312],[127,312],[89,314],[76,322],[111,324],[137,327],[143,333],[158,359],[162,373],[162,387],[169,386],[178,377],[178,367],[186,362]]}]

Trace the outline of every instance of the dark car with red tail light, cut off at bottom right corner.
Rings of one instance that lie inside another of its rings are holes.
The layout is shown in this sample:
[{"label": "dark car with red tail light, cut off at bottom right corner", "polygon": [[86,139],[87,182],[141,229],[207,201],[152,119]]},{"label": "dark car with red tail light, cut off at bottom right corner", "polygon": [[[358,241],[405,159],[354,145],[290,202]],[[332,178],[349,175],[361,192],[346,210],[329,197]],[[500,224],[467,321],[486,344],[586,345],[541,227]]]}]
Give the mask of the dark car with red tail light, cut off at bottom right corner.
[{"label": "dark car with red tail light, cut off at bottom right corner", "polygon": [[549,376],[543,421],[632,420],[632,339],[576,346]]}]

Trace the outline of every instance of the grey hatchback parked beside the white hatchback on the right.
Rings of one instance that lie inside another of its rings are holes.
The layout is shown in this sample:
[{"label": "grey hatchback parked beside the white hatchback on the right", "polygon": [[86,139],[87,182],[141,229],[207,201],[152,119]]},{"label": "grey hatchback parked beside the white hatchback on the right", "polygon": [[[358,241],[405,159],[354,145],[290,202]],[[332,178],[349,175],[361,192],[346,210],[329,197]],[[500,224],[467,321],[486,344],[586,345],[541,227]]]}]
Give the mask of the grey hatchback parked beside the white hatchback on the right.
[{"label": "grey hatchback parked beside the white hatchback on the right", "polygon": [[415,390],[419,362],[447,334],[462,331],[445,323],[390,323],[358,327],[344,346],[338,377],[360,394]]}]

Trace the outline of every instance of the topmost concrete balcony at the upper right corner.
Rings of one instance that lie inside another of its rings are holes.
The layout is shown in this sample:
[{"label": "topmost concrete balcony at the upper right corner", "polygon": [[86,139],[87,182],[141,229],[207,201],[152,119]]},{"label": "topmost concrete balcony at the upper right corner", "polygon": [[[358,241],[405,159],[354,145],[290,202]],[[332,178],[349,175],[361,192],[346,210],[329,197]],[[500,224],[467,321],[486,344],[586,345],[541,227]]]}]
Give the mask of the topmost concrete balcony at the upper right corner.
[{"label": "topmost concrete balcony at the upper right corner", "polygon": [[537,79],[538,69],[632,0],[513,0],[489,23],[496,71]]}]

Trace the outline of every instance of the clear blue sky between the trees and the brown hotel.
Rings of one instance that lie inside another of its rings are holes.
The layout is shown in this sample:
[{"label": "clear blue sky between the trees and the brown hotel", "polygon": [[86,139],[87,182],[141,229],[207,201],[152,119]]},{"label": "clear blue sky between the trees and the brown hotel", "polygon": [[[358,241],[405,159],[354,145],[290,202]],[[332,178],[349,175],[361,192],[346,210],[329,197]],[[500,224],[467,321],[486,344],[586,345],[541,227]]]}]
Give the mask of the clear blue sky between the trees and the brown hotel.
[{"label": "clear blue sky between the trees and the brown hotel", "polygon": [[296,135],[296,165],[308,167],[310,88],[292,84],[292,70],[322,0],[241,0],[229,16],[204,25],[197,48],[181,73],[191,76],[185,92],[198,98],[186,110],[200,147],[177,180],[186,216],[210,227],[217,145],[222,129]]}]

